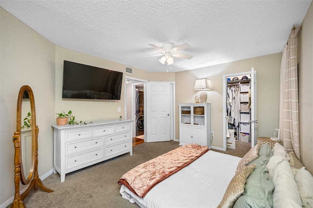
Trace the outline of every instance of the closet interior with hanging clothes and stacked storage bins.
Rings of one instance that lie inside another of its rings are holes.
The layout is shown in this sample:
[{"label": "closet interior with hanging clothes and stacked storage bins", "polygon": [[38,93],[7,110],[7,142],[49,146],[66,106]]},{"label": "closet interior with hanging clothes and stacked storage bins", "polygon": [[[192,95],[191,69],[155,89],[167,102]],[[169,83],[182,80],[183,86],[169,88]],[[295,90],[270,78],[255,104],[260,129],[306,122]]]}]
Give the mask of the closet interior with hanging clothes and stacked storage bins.
[{"label": "closet interior with hanging clothes and stacked storage bins", "polygon": [[250,75],[226,78],[227,148],[250,141]]}]

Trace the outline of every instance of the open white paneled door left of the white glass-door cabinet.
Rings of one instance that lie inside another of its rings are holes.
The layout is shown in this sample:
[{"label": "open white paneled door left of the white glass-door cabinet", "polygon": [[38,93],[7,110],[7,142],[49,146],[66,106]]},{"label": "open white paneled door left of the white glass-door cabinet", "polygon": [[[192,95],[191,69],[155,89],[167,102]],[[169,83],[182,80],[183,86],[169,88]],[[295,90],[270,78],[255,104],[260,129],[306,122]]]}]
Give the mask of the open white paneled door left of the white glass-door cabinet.
[{"label": "open white paneled door left of the white glass-door cabinet", "polygon": [[170,83],[147,83],[147,142],[170,141]]}]

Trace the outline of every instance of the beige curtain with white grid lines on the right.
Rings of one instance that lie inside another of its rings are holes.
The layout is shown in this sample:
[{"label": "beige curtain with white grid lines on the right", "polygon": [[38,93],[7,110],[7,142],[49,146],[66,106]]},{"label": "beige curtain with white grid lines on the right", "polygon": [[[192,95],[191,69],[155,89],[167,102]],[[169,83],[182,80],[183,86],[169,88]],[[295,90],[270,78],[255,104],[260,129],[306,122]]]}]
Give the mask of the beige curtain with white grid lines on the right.
[{"label": "beige curtain with white grid lines on the right", "polygon": [[284,48],[280,68],[280,139],[288,151],[294,151],[300,159],[299,113],[298,113],[298,69],[297,33],[292,28]]}]

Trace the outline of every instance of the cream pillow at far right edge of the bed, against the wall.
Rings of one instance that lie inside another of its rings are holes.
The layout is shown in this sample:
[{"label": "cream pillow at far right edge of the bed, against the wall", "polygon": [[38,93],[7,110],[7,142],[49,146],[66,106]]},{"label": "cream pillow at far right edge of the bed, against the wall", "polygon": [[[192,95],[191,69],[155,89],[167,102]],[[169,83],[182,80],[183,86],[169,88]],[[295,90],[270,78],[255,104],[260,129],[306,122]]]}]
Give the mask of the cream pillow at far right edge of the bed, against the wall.
[{"label": "cream pillow at far right edge of the bed, against the wall", "polygon": [[300,192],[302,206],[313,208],[313,176],[311,173],[301,167],[295,174],[294,180]]}]

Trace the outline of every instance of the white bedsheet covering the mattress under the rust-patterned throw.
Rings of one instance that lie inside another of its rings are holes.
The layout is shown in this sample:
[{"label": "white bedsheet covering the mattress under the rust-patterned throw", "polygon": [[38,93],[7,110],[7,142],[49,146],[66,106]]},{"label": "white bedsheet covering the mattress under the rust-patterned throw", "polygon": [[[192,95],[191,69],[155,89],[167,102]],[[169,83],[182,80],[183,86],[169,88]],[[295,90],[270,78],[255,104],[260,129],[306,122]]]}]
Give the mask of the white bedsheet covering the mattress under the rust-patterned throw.
[{"label": "white bedsheet covering the mattress under the rust-patterned throw", "polygon": [[157,184],[143,198],[124,185],[124,199],[141,208],[216,208],[241,158],[212,150]]}]

